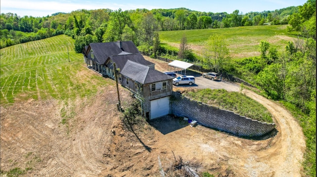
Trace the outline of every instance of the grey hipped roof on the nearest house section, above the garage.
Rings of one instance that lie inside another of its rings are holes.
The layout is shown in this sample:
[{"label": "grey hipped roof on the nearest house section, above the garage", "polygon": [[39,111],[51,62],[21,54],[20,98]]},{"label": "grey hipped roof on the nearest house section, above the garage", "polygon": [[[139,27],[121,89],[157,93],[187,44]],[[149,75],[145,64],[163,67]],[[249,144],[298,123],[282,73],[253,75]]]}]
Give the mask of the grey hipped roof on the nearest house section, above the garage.
[{"label": "grey hipped roof on the nearest house section, above the garage", "polygon": [[149,66],[127,60],[120,73],[131,78],[141,84],[155,83],[173,79],[173,77],[161,73]]}]

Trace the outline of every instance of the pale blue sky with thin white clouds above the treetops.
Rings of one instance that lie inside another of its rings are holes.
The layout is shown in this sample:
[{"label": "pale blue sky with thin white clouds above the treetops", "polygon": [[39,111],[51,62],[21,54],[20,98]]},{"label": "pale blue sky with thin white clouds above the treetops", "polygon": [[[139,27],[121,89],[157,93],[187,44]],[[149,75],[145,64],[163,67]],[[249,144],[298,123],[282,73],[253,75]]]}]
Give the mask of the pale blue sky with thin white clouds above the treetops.
[{"label": "pale blue sky with thin white clouds above the treetops", "polygon": [[56,12],[70,13],[78,9],[148,10],[185,7],[201,12],[240,13],[276,10],[303,5],[307,0],[0,0],[0,13],[43,17]]}]

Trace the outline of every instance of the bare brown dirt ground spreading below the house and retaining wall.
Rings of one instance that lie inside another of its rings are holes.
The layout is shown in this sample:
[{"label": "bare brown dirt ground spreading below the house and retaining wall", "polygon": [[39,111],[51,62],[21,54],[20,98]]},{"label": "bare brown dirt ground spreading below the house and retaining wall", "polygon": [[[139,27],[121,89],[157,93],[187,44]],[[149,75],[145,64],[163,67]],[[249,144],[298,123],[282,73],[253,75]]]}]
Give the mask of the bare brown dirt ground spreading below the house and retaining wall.
[{"label": "bare brown dirt ground spreading below the house and retaining wall", "polygon": [[[157,70],[167,70],[166,62],[146,59]],[[295,118],[278,103],[243,92],[271,112],[276,135],[245,139],[171,117],[128,131],[119,119],[113,86],[67,104],[16,101],[0,109],[0,168],[30,168],[23,176],[32,177],[159,177],[160,169],[167,172],[175,163],[175,155],[197,172],[215,177],[301,176],[305,139]],[[124,88],[120,98],[123,104],[131,101]],[[62,108],[75,113],[64,125]]]}]

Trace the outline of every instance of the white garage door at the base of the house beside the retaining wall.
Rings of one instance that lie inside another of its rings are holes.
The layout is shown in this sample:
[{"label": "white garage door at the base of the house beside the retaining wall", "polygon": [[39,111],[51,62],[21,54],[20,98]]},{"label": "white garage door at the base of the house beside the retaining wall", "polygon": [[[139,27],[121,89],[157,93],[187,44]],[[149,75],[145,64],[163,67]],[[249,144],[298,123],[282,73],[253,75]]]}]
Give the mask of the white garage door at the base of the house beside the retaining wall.
[{"label": "white garage door at the base of the house beside the retaining wall", "polygon": [[169,113],[169,96],[151,101],[151,118],[155,119]]}]

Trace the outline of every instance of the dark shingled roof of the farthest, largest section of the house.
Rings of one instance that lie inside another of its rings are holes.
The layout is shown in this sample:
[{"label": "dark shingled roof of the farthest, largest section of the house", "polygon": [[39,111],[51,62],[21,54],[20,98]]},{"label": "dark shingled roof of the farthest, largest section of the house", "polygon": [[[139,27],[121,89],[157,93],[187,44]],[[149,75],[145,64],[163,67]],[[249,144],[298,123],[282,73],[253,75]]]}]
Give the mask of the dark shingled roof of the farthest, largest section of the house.
[{"label": "dark shingled roof of the farthest, largest section of the house", "polygon": [[104,64],[109,56],[140,53],[132,41],[91,43],[89,45],[94,51],[94,56],[99,64]]}]

